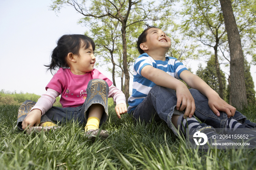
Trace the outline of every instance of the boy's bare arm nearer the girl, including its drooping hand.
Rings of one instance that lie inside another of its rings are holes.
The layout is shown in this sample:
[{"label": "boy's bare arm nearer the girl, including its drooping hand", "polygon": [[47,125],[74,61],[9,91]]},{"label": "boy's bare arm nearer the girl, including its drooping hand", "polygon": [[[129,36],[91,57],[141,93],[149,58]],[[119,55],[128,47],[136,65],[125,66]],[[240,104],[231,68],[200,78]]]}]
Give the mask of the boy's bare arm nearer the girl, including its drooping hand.
[{"label": "boy's bare arm nearer the girl, including its drooping hand", "polygon": [[159,86],[176,90],[177,110],[183,111],[186,108],[184,116],[193,116],[196,109],[195,101],[191,93],[189,92],[187,86],[183,82],[170,76],[163,70],[154,68],[151,65],[144,66],[143,69],[141,70],[141,75]]}]

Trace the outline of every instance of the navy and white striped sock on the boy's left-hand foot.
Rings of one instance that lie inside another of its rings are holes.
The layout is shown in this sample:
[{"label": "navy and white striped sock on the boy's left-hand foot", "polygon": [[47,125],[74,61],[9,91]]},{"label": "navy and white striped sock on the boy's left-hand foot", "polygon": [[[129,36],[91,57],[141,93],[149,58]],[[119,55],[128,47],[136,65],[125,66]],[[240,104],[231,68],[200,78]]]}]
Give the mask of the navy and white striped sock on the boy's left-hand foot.
[{"label": "navy and white striped sock on the boy's left-hand foot", "polygon": [[187,117],[186,119],[184,119],[183,116],[184,115],[180,115],[177,121],[177,124],[180,125],[180,131],[183,134],[185,134],[186,128],[188,128],[188,130],[190,131],[191,128],[197,128],[200,124],[194,116],[192,116],[191,118]]}]

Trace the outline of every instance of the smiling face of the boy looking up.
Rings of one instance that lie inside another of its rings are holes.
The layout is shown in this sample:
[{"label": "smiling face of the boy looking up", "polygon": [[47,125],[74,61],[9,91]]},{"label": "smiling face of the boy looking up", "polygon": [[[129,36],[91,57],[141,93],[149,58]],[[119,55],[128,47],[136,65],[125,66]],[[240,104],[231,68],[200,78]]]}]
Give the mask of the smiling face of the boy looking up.
[{"label": "smiling face of the boy looking up", "polygon": [[147,42],[142,43],[145,49],[142,49],[147,53],[154,50],[166,50],[171,47],[170,38],[159,28],[150,28],[147,30]]}]

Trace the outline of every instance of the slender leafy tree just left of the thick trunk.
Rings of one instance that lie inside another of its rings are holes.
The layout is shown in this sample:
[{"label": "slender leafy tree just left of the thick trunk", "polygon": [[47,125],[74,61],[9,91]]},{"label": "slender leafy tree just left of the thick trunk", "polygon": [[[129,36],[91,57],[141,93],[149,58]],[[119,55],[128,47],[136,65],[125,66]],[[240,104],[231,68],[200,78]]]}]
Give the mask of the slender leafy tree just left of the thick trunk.
[{"label": "slender leafy tree just left of the thick trunk", "polygon": [[219,81],[219,96],[223,98],[223,83],[219,68],[218,47],[226,41],[224,20],[218,0],[184,0],[182,12],[186,35],[214,49],[215,67]]}]

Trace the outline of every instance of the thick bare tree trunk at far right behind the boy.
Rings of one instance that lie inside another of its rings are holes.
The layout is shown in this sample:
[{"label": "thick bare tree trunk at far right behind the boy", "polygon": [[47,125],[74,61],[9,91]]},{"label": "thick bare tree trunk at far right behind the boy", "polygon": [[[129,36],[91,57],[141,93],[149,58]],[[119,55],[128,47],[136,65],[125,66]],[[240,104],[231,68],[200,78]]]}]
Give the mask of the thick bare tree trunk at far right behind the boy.
[{"label": "thick bare tree trunk at far right behind the boy", "polygon": [[230,50],[230,93],[232,104],[237,109],[247,107],[245,78],[244,78],[244,56],[242,53],[241,39],[238,32],[236,19],[230,0],[220,0],[223,12],[227,38]]}]

